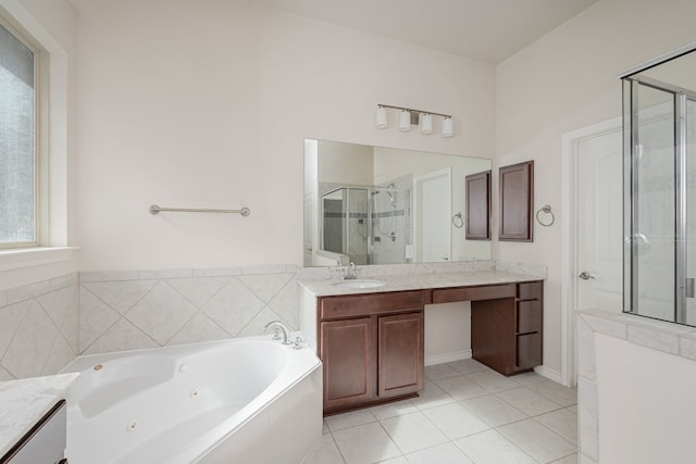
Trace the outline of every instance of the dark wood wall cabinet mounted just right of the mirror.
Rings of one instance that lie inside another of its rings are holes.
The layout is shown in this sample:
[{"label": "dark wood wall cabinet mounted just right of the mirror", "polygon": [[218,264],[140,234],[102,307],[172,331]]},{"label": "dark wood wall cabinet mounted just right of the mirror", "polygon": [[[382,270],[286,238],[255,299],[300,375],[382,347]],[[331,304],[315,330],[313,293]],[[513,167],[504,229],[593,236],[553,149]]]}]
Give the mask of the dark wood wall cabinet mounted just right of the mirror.
[{"label": "dark wood wall cabinet mounted just right of the mirror", "polygon": [[533,241],[534,161],[498,170],[498,240]]}]

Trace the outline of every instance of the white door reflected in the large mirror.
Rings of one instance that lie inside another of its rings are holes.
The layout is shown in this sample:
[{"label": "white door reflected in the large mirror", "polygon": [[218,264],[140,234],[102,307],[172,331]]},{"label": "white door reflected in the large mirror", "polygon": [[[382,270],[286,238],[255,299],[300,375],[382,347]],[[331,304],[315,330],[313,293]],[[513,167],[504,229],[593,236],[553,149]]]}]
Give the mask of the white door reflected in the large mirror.
[{"label": "white door reflected in the large mirror", "polygon": [[428,173],[415,178],[417,237],[421,262],[451,259],[451,171]]}]

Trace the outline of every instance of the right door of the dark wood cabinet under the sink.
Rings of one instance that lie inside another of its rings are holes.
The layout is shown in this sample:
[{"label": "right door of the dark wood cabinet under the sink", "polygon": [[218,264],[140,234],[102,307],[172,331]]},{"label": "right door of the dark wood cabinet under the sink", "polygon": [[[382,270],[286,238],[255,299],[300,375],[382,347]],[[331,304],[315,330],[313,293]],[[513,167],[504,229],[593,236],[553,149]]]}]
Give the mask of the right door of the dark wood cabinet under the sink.
[{"label": "right door of the dark wood cabinet under the sink", "polygon": [[412,393],[423,388],[423,311],[380,317],[377,394]]}]

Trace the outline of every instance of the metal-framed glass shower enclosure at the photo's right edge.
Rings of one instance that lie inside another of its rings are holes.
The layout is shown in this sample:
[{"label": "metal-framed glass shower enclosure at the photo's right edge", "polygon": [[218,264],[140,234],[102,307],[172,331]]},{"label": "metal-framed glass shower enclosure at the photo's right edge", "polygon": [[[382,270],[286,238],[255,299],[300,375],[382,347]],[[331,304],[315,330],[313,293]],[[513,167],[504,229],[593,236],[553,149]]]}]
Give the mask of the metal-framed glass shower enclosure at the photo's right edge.
[{"label": "metal-framed glass shower enclosure at the photo's right edge", "polygon": [[623,79],[624,311],[696,325],[696,46]]}]

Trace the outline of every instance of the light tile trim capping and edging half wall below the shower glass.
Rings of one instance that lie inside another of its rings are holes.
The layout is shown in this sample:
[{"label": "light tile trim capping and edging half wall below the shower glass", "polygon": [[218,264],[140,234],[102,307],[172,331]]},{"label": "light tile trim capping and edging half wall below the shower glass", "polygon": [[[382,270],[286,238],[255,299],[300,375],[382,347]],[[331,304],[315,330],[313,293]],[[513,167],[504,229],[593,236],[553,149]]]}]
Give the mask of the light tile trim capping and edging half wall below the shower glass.
[{"label": "light tile trim capping and edging half wall below the shower glass", "polygon": [[580,311],[577,338],[577,405],[580,456],[582,463],[600,463],[599,401],[595,335],[667,353],[674,359],[696,361],[696,328],[641,316],[604,311]]}]

